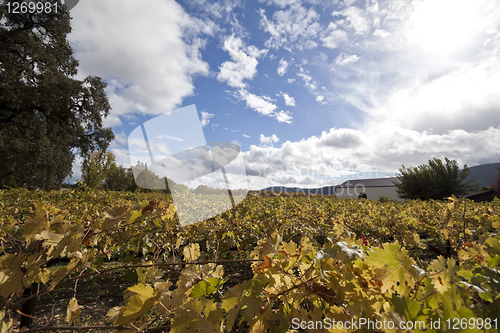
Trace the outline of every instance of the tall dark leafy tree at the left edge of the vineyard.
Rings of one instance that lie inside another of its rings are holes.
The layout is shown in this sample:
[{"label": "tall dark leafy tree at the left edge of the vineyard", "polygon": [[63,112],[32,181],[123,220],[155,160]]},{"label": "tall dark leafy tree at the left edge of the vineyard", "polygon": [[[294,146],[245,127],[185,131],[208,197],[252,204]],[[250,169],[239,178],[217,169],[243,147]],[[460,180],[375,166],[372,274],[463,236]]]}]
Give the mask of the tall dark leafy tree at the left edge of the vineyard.
[{"label": "tall dark leafy tree at the left edge of the vineyard", "polygon": [[0,4],[0,187],[56,189],[75,154],[106,150],[110,110],[98,77],[76,80],[78,61],[66,40],[69,12],[8,13]]}]

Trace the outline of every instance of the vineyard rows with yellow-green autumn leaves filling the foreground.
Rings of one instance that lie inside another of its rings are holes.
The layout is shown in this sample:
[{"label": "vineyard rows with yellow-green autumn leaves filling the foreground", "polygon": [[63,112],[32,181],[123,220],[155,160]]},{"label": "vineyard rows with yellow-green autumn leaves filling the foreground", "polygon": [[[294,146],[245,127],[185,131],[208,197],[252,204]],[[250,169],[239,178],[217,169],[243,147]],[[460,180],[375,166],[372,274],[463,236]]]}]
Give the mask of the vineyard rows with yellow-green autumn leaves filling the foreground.
[{"label": "vineyard rows with yellow-green autumn leaves filling the foreground", "polygon": [[498,199],[250,195],[183,227],[165,194],[19,189],[0,225],[1,332],[500,327]]}]

